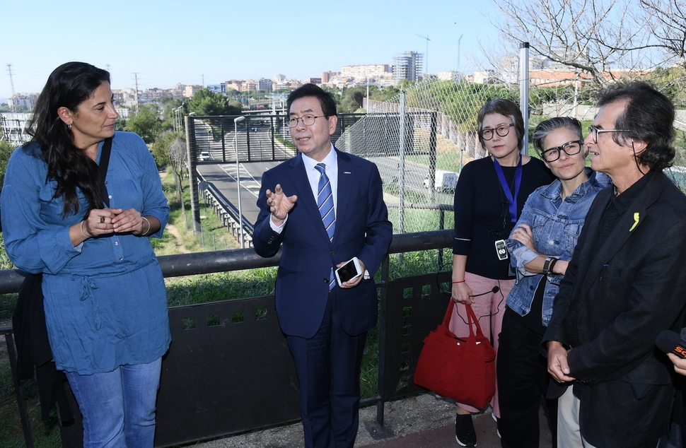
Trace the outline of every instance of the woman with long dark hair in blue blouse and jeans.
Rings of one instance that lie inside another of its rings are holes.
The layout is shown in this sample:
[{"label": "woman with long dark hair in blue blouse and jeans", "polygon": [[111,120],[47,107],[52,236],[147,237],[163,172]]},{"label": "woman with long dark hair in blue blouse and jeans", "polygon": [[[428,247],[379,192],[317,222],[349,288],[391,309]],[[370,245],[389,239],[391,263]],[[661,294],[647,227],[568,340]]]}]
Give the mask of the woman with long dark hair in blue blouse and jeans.
[{"label": "woman with long dark hair in blue blouse and jeans", "polygon": [[[118,116],[110,73],[82,62],[57,67],[1,194],[8,256],[43,274],[50,346],[83,414],[84,447],[153,446],[170,343],[149,240],[161,237],[169,208],[148,148],[115,132]],[[98,164],[107,138],[105,191]]]}]

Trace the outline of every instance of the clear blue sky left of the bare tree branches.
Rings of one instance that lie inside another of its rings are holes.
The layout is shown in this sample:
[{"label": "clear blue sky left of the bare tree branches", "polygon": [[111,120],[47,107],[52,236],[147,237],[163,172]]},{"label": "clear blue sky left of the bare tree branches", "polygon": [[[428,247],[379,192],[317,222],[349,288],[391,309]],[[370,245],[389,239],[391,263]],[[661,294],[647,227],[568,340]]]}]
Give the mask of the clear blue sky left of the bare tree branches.
[{"label": "clear blue sky left of the bare tree branches", "polygon": [[0,98],[37,93],[66,61],[112,73],[112,88],[171,88],[229,79],[321,76],[351,64],[390,64],[426,52],[431,73],[475,69],[479,42],[497,32],[490,2],[368,1],[31,1],[0,5]]}]

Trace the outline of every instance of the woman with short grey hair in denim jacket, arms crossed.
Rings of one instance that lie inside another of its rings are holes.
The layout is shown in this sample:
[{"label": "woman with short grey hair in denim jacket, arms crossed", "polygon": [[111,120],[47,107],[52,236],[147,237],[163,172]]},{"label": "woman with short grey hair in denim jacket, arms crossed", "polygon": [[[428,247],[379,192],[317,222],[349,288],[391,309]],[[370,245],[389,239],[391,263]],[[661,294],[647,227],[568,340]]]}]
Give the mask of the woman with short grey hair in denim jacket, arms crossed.
[{"label": "woman with short grey hair in denim jacket, arms crossed", "polygon": [[[538,447],[538,408],[549,380],[540,342],[588,208],[610,184],[609,177],[586,167],[579,120],[545,120],[532,141],[557,180],[529,196],[507,242],[517,280],[506,300],[496,375],[499,430],[503,446],[510,448]],[[557,401],[549,402],[548,410],[555,440]]]}]

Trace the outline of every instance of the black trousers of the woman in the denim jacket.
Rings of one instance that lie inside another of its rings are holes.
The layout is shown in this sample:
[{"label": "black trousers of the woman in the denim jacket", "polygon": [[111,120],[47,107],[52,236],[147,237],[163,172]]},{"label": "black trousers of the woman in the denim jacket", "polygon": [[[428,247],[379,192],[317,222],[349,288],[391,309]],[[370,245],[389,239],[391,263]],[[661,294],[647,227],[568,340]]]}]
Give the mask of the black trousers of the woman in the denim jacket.
[{"label": "black trousers of the woman in the denim jacket", "polygon": [[[550,375],[540,354],[542,334],[529,329],[507,308],[498,348],[499,430],[503,447],[538,448],[539,409]],[[553,447],[557,444],[557,399],[546,400]]]}]

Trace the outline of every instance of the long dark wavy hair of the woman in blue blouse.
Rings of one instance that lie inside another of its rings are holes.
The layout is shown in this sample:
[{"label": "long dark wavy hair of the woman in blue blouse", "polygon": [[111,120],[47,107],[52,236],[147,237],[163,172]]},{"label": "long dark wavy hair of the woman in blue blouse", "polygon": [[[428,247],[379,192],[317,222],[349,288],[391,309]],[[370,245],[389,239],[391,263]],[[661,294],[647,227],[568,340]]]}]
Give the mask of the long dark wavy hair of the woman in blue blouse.
[{"label": "long dark wavy hair of the woman in blue blouse", "polygon": [[46,181],[54,179],[57,182],[53,199],[62,197],[64,200],[63,217],[79,213],[77,187],[88,199],[89,208],[102,208],[103,199],[98,164],[74,146],[71,130],[59,118],[57,110],[66,107],[71,112],[78,112],[81,102],[91,98],[105,82],[110,82],[110,73],[103,69],[85,62],[62,64],[47,78],[28,122],[26,131],[33,137],[28,146],[34,143],[40,148],[47,164]]}]

